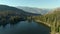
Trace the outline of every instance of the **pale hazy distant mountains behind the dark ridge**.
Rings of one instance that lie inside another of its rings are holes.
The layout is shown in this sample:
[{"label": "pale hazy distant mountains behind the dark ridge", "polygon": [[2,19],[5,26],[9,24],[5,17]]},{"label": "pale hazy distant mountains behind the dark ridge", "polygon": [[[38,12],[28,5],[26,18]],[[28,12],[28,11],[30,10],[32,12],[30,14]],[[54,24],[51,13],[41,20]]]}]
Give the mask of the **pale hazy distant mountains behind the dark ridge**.
[{"label": "pale hazy distant mountains behind the dark ridge", "polygon": [[40,9],[40,8],[22,7],[22,6],[17,6],[16,8],[22,9],[26,12],[35,13],[35,14],[42,14],[42,15],[51,11],[51,9]]}]

